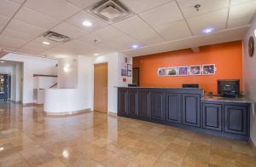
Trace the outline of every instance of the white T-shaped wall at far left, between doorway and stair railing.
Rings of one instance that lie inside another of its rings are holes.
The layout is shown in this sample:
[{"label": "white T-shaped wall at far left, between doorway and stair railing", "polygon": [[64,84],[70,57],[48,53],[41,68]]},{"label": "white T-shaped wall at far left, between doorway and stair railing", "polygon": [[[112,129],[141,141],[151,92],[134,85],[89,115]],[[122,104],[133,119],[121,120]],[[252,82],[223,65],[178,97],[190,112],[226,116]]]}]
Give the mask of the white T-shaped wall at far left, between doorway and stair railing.
[{"label": "white T-shaped wall at far left, between doorway and stair railing", "polygon": [[23,103],[33,102],[33,74],[56,75],[57,60],[13,53],[3,56],[1,60],[23,62]]}]

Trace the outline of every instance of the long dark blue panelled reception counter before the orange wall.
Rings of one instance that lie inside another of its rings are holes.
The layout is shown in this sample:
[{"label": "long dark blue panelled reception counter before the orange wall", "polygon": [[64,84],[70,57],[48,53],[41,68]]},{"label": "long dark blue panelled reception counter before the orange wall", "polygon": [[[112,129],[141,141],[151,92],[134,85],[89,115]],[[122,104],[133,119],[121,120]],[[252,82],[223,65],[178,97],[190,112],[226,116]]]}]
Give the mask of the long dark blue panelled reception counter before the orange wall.
[{"label": "long dark blue panelled reception counter before the orange wall", "polygon": [[119,87],[118,115],[211,135],[249,139],[250,102],[239,98],[236,101],[210,99],[204,97],[203,89]]}]

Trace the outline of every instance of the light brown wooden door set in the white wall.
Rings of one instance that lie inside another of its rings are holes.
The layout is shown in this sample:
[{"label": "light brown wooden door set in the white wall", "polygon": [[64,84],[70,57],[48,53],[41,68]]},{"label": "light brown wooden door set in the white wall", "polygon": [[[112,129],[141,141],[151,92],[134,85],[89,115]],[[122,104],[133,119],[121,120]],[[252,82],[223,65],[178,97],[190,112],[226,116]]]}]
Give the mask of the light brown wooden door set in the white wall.
[{"label": "light brown wooden door set in the white wall", "polygon": [[94,65],[94,110],[108,112],[108,63]]}]

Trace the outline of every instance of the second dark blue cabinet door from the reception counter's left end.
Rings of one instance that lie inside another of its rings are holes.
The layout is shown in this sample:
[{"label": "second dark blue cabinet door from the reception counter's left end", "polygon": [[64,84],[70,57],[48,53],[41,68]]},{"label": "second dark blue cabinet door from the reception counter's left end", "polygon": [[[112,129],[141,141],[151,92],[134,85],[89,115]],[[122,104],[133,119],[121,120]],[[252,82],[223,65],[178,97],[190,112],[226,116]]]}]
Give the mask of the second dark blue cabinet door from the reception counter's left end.
[{"label": "second dark blue cabinet door from the reception counter's left end", "polygon": [[137,89],[128,90],[128,114],[137,116]]}]

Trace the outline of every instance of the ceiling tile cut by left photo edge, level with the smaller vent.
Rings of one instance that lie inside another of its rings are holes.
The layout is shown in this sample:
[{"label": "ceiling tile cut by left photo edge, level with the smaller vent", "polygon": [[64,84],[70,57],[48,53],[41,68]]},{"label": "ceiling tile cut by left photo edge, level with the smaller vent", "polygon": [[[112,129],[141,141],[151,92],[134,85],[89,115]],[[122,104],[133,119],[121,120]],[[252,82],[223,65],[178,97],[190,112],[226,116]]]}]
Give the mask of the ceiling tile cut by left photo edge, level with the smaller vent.
[{"label": "ceiling tile cut by left photo edge, level with the smaller vent", "polygon": [[18,49],[20,48],[25,42],[17,40],[12,37],[4,37],[0,35],[0,46],[10,48],[10,49]]}]

